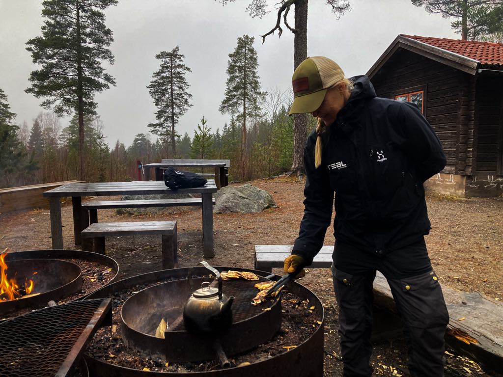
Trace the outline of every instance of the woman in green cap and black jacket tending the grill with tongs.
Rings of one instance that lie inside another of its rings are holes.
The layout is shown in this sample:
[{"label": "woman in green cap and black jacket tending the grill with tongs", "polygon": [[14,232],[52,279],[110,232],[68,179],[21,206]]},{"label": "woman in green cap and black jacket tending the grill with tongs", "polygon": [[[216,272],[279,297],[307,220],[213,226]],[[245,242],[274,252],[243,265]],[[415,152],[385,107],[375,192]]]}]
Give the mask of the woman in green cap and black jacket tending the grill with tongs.
[{"label": "woman in green cap and black jacket tending the grill with tongs", "polygon": [[318,119],[304,149],[304,216],[285,272],[303,275],[323,245],[335,195],[333,286],[339,305],[344,376],[370,376],[372,282],[389,282],[404,324],[412,376],[443,376],[449,315],[424,236],[430,231],[423,182],[444,152],[415,105],[377,98],[367,76],[344,78],[322,56],[292,78],[291,114]]}]

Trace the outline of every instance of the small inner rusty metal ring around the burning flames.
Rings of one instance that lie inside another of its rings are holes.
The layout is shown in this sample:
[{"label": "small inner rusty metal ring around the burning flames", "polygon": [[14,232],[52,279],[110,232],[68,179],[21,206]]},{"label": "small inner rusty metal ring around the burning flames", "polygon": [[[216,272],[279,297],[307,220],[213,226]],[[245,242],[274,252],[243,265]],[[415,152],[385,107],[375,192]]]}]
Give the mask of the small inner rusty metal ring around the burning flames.
[{"label": "small inner rusty metal ring around the burning flames", "polygon": [[[38,308],[80,290],[82,275],[75,263],[58,259],[20,259],[9,262],[8,271],[19,281],[34,281],[32,295],[0,301],[0,315],[25,308]],[[34,272],[36,272],[34,274]],[[35,295],[33,295],[35,294]]]}]

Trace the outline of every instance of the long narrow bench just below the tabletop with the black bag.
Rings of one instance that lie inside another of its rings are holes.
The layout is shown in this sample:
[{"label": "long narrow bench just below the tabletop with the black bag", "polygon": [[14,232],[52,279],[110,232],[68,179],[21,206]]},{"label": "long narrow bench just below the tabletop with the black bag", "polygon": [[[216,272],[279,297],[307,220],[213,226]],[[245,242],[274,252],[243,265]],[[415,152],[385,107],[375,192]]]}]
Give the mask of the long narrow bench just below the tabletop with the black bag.
[{"label": "long narrow bench just below the tabletop with the black bag", "polygon": [[[98,222],[98,210],[110,208],[149,208],[149,207],[181,207],[181,206],[199,206],[203,205],[201,198],[182,198],[182,199],[147,199],[147,200],[110,200],[82,203],[84,210],[89,210],[89,223]],[[215,205],[215,198],[213,198]]]}]

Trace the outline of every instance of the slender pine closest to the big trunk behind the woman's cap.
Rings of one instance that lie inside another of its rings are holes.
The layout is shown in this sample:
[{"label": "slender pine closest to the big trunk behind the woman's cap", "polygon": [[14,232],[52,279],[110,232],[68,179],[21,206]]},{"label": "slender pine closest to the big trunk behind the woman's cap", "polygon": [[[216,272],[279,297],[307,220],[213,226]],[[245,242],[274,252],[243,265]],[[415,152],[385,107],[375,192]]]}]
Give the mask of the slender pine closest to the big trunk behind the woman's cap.
[{"label": "slender pine closest to the big trunk behind the woman's cap", "polygon": [[266,96],[266,92],[260,90],[260,77],[257,72],[259,62],[257,50],[253,47],[254,41],[254,37],[246,34],[237,38],[237,46],[234,52],[229,54],[225,98],[219,109],[222,114],[236,115],[236,120],[242,121],[243,153],[246,148],[246,119],[258,116],[258,105]]}]

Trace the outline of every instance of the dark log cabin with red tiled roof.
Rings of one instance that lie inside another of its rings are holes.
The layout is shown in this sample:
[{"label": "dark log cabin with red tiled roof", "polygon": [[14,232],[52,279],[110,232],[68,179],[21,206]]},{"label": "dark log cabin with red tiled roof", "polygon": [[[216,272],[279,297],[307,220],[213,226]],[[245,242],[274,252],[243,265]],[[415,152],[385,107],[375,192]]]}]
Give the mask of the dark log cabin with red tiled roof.
[{"label": "dark log cabin with red tiled roof", "polygon": [[441,140],[447,166],[425,186],[503,194],[503,44],[400,34],[367,75],[379,97],[420,107]]}]

